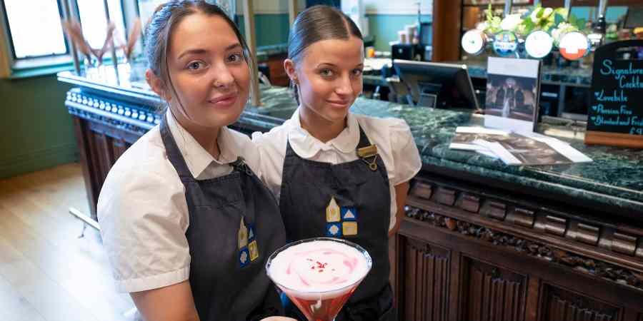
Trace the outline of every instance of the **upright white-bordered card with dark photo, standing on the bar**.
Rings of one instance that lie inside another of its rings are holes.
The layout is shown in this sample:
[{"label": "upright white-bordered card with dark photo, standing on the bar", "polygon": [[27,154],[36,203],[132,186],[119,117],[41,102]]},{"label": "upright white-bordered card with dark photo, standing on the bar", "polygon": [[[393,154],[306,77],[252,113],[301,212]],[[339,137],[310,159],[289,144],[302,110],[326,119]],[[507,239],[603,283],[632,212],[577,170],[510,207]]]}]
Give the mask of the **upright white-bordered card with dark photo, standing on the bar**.
[{"label": "upright white-bordered card with dark photo, standing on the bar", "polygon": [[[535,131],[540,66],[536,59],[489,57],[485,126],[512,131]],[[499,119],[500,118],[500,119]]]}]

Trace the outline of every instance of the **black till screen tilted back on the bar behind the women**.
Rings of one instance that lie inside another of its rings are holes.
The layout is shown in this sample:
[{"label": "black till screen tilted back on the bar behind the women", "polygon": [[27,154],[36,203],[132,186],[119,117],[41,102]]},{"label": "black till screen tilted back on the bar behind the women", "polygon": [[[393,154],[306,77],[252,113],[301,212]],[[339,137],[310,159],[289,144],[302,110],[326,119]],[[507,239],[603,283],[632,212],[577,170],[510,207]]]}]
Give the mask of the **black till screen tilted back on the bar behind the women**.
[{"label": "black till screen tilted back on the bar behind the women", "polygon": [[409,104],[479,109],[466,65],[395,59],[393,67],[411,93]]}]

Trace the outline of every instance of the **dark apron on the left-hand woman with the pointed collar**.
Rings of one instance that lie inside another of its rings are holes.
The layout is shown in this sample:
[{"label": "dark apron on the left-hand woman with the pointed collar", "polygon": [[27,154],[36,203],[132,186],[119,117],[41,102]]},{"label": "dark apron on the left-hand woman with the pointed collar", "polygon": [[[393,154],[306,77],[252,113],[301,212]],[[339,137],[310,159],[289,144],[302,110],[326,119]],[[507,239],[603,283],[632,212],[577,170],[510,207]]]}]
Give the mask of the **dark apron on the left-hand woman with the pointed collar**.
[{"label": "dark apron on the left-hand woman with the pointed collar", "polygon": [[[186,230],[189,282],[201,321],[261,320],[281,315],[281,301],[266,275],[269,255],[286,242],[274,195],[242,158],[229,175],[196,180],[166,118],[161,138],[185,186],[190,224]],[[243,220],[245,246],[239,247]]]}]

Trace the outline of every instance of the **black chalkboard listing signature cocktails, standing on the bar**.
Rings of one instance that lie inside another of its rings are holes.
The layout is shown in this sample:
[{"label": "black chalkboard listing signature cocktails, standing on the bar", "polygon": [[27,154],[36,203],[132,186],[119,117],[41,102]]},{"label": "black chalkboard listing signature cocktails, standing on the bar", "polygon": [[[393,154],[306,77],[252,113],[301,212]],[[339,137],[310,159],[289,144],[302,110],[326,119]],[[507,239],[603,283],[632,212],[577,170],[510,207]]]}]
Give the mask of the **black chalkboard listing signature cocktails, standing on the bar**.
[{"label": "black chalkboard listing signature cocktails, standing on the bar", "polygon": [[585,143],[643,148],[643,60],[624,59],[635,47],[643,40],[596,50]]}]

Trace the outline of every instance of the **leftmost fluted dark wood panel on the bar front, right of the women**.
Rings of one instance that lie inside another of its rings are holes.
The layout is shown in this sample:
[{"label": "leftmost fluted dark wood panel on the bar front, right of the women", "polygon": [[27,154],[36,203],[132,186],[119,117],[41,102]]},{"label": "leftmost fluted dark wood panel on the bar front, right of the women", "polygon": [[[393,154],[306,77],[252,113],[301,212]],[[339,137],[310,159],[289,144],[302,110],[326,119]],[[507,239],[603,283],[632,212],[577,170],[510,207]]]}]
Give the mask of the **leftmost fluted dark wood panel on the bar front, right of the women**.
[{"label": "leftmost fluted dark wood panel on the bar front, right of the women", "polygon": [[448,250],[406,238],[404,279],[404,320],[447,320]]}]

